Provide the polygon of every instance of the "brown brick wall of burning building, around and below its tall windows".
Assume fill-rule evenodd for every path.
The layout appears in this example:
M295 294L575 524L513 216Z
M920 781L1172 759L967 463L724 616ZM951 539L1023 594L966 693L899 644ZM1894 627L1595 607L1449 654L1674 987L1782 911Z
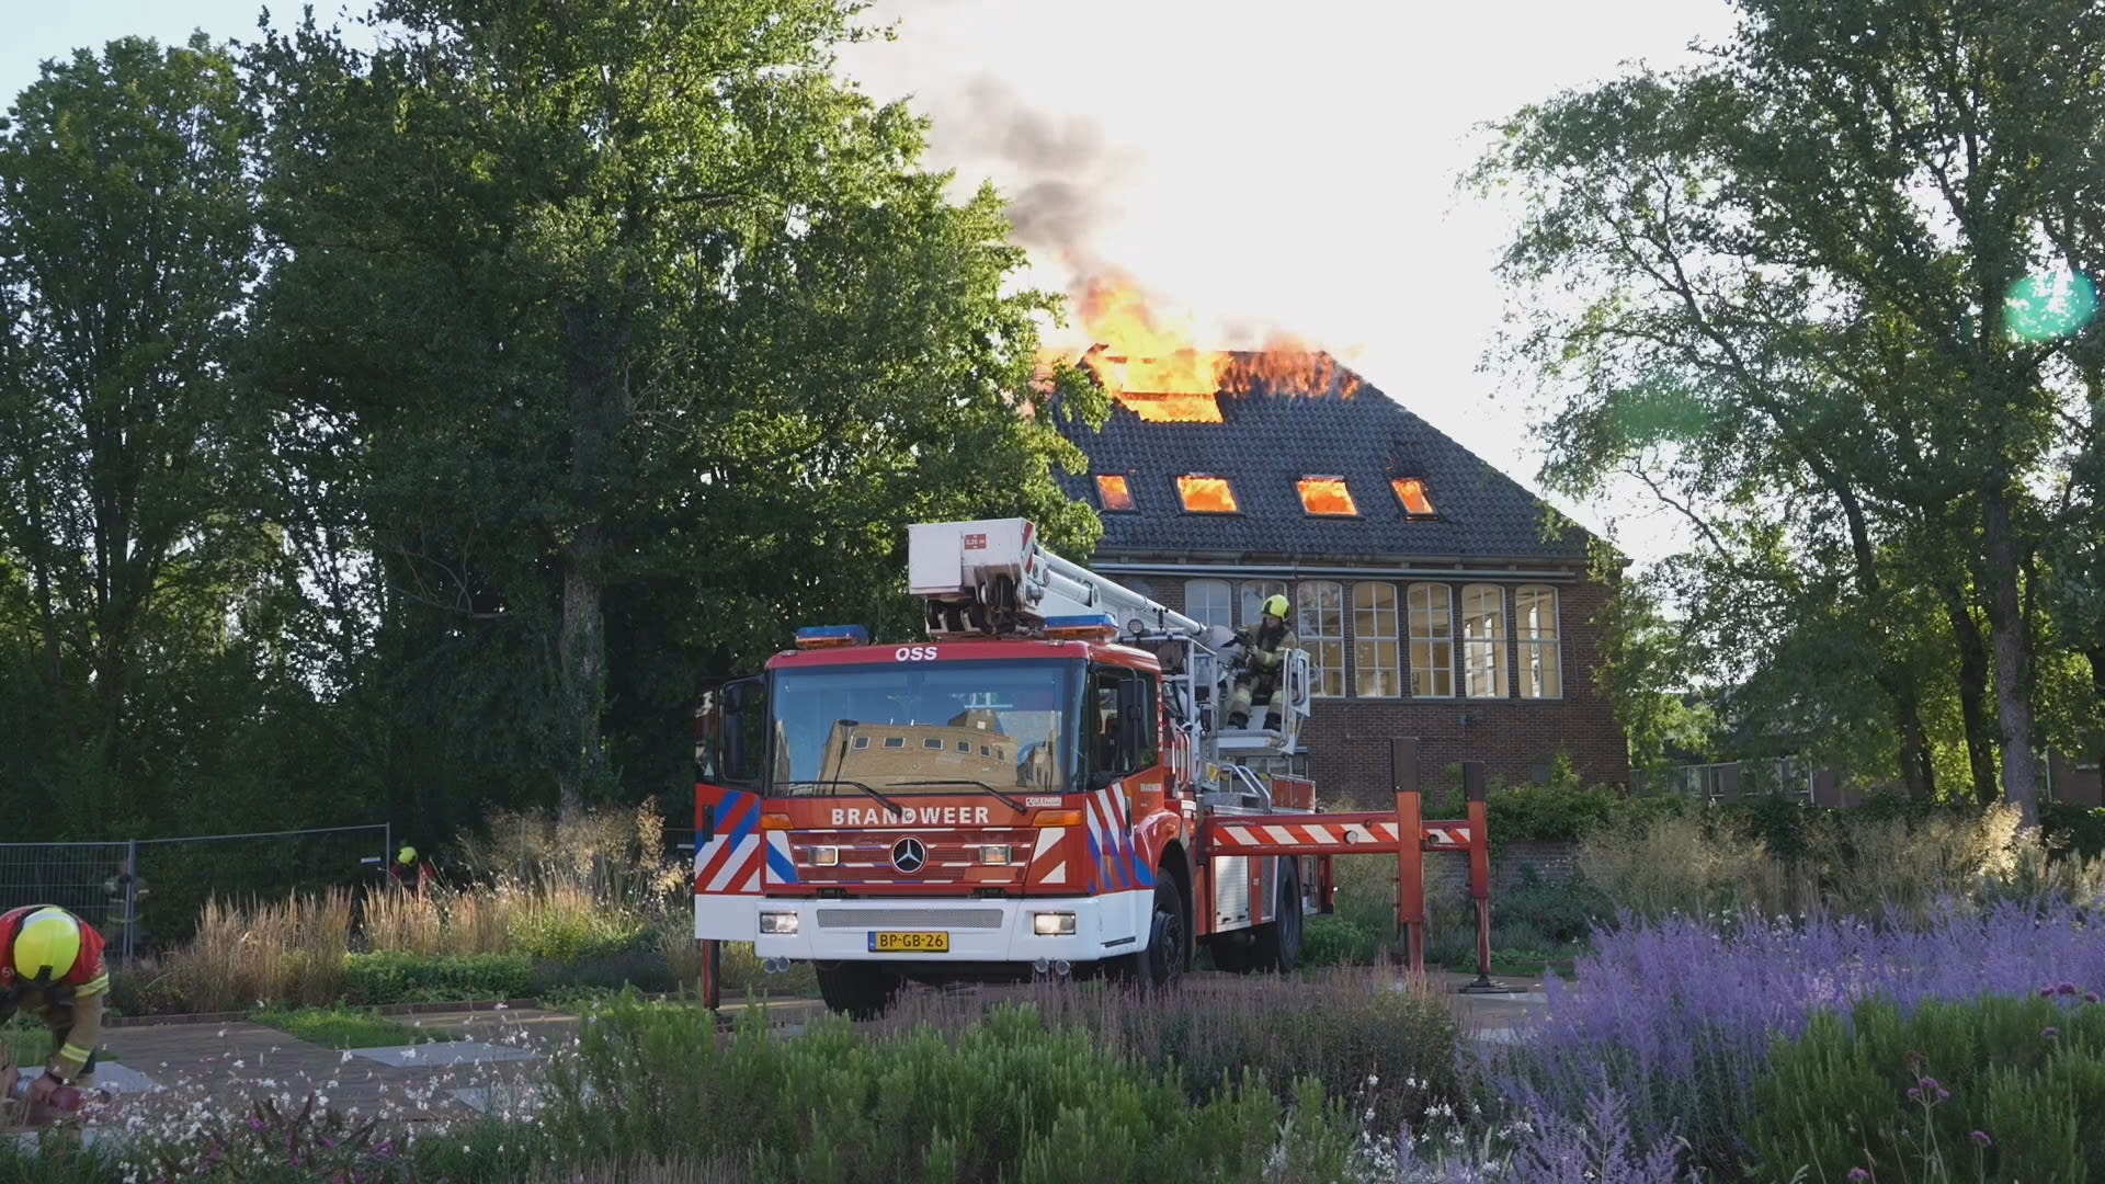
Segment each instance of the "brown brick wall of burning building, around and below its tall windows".
M1579 773L1593 782L1621 782L1629 775L1629 750L1615 710L1593 689L1593 668L1600 664L1600 630L1593 617L1606 605L1608 588L1589 581L1553 584L1558 590L1558 649L1562 666L1564 695L1558 699L1522 699L1518 695L1518 628L1513 621L1513 594L1520 581L1499 581L1486 571L1482 581L1507 588L1505 596L1505 662L1507 697L1503 699L1360 699L1354 697L1354 613L1351 579L1345 584L1345 689L1347 697L1318 697L1303 729L1307 775L1316 780L1318 801L1339 805L1383 805L1389 794L1389 739L1398 735L1419 737L1419 780L1427 790L1444 784L1444 769L1459 761L1482 761L1490 777L1507 784L1532 782L1547 773L1558 750L1570 752ZM1379 575L1368 575L1379 579ZM1187 611L1185 581L1181 577L1147 575L1128 577L1122 584L1141 590L1170 609ZM1229 584L1238 581L1229 577ZM1404 588L1408 581L1394 581L1398 588L1400 617L1404 615ZM1457 645L1461 584L1455 590ZM1297 588L1288 586L1288 594ZM1240 596L1238 596L1240 600ZM1408 634L1408 624L1400 626ZM1408 638L1398 647L1408 664ZM1404 674L1408 687L1408 672ZM1463 689L1457 674L1455 689Z

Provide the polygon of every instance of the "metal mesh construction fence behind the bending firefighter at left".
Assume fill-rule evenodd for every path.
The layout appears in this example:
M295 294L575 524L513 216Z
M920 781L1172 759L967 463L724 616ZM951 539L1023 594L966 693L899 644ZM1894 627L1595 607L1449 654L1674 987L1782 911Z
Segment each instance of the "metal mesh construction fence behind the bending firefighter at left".
M356 889L387 876L394 828L326 826L126 838L0 843L0 912L57 904L95 925L114 961L183 942L210 897L269 900Z

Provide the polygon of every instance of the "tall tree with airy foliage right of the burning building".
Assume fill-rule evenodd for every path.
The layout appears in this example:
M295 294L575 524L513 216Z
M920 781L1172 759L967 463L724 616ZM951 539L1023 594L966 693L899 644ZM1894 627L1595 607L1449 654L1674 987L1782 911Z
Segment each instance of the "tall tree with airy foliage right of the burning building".
M1873 630L1869 672L1918 792L1930 744L1897 621L1918 609L1888 565L1932 567L1905 550L1909 529L1958 514L1977 554L1943 556L1941 584L1968 590L1947 617L1979 594L2004 794L2029 822L2025 581L2044 516L2027 482L2073 392L2057 369L2067 333L2031 333L2012 293L2069 265L2050 230L2084 225L2105 15L2076 0L1739 8L1705 63L1530 107L1480 169L1530 198L1507 274L1572 297L1537 305L1518 343L1568 383L1551 474L1593 489L1636 463L1722 556L1846 573L1831 596Z

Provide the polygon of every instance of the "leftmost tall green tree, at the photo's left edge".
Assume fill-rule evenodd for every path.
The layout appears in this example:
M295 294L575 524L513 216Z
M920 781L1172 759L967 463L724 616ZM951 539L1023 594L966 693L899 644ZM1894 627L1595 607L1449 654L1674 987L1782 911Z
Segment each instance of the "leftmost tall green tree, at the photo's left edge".
M44 754L36 796L97 822L143 805L143 680L185 628L223 630L185 596L255 541L225 369L257 265L250 126L202 36L48 63L0 122L0 567L40 687L15 739Z

